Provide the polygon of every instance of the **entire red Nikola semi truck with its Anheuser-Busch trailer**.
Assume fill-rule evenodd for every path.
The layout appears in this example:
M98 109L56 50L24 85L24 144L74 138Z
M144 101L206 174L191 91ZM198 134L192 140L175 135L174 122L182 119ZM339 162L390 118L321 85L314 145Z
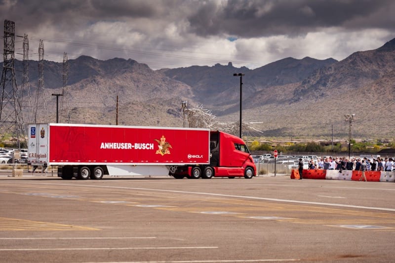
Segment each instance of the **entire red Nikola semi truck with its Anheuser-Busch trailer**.
M63 179L256 175L247 146L221 131L90 124L29 124L28 162L58 166Z

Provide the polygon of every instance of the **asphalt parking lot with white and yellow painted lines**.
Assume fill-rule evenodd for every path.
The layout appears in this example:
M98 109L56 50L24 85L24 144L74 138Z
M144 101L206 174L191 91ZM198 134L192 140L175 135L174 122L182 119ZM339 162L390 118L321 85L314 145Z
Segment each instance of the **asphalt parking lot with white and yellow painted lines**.
M395 184L0 176L0 262L394 262Z

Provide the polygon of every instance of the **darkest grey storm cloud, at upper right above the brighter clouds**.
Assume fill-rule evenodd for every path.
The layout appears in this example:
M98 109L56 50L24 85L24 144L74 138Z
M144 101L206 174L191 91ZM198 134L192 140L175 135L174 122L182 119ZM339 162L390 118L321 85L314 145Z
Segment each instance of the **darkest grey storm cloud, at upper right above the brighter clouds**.
M199 36L267 37L306 34L326 27L393 28L393 0L230 0L201 4L189 17ZM363 19L361 19L363 18ZM371 18L371 19L369 19Z

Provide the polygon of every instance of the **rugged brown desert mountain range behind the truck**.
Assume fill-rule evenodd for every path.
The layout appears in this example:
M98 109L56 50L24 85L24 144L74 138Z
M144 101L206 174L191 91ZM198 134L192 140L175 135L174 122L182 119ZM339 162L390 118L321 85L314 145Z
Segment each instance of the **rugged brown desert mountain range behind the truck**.
M15 60L18 89L22 69L22 62ZM68 61L69 96L60 97L60 120L116 124L118 96L120 125L182 127L184 101L189 107L202 105L217 121L236 123L240 90L235 73L245 74L243 122L263 136L348 138L350 123L344 115L349 113L355 114L353 138L394 138L395 38L341 61L284 58L254 70L229 62L154 71L132 59L81 56ZM29 84L34 103L38 61L29 61ZM44 87L37 122L55 122L56 98L51 94L62 93L62 63L44 60ZM29 122L27 94L25 88L23 116Z

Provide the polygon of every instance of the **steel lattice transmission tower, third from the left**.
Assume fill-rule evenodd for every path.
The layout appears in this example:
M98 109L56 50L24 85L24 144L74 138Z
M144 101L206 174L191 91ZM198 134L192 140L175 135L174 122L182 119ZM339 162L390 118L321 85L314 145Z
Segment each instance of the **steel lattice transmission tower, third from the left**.
M40 100L40 98L42 98L42 101ZM47 114L46 99L45 99L45 88L44 88L44 43L42 42L41 39L39 44L39 82L37 85L36 102L33 107L34 122L36 123L37 123L37 117L38 117L37 115L39 109L40 112L43 112L44 114L43 122L48 122L48 114Z

